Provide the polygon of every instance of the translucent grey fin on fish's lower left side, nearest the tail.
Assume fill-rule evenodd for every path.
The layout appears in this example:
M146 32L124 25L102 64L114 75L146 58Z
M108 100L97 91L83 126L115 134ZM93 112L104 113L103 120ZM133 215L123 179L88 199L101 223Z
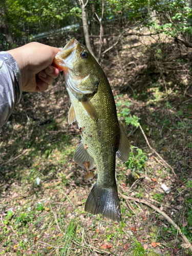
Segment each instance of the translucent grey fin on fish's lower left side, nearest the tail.
M89 162L90 170L93 169L93 167L95 166L95 161L94 161L93 157L90 156L90 154L88 153L86 148L84 148L84 143L82 140L80 141L80 144L78 145L78 147L75 151L75 155L74 155L73 159L76 162L76 164L78 164L82 168L84 168L84 165L83 165L84 161Z

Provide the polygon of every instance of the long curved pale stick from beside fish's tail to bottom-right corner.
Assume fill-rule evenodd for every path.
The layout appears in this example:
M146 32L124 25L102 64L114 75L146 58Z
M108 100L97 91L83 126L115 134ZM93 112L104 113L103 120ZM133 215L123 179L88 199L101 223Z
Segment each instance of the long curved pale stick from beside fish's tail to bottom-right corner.
M181 235L181 237L183 238L183 240L185 241L185 243L189 246L188 248L192 251L192 245L191 243L188 241L188 239L186 238L186 236L181 232L181 229L180 227L172 220L170 219L170 217L168 215L165 214L165 212L161 211L158 207L156 207L155 205L145 201L145 200L142 200L142 199L138 199L138 198L134 198L134 197L127 197L127 196L124 196L124 195L121 195L122 198L124 198L125 200L128 199L128 200L133 200L134 202L138 202L138 203L142 203L142 204L146 204L148 206L150 206L152 209L156 210L159 214L161 214L170 224L172 224L175 229L179 230L179 233Z

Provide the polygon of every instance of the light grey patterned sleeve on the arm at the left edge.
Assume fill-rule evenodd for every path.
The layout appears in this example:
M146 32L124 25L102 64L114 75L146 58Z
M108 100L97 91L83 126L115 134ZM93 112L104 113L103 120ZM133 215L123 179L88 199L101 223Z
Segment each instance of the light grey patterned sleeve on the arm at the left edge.
M11 115L22 97L22 76L15 59L7 52L0 52L0 127Z

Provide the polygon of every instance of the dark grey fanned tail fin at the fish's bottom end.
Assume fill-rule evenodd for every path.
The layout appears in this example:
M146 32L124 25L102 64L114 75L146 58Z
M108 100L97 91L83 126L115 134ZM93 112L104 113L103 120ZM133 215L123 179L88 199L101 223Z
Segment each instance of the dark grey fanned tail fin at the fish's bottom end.
M113 221L121 221L121 209L117 193L117 185L110 188L93 186L84 207L91 214L102 214L102 216Z

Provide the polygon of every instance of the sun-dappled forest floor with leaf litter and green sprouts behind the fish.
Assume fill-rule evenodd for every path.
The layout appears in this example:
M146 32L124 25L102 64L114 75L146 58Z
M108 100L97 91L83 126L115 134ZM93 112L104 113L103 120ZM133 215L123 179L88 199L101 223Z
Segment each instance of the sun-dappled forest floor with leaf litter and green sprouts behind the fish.
M0 133L0 254L191 255L158 212L123 198L159 207L192 242L191 57L168 38L129 37L101 62L133 145L128 163L116 160L121 223L84 211L97 174L86 181L73 161L80 136L67 122L62 74L46 92L23 93ZM133 116L185 186L150 151Z

